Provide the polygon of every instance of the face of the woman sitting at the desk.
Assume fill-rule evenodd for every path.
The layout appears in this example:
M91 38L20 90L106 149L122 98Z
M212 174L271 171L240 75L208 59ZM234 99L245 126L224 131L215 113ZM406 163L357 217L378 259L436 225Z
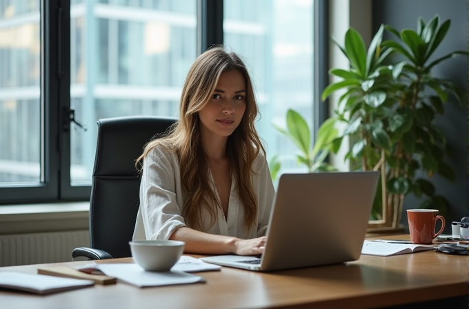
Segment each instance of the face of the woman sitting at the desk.
M212 96L199 110L204 137L228 137L241 123L246 110L246 81L238 70L221 73Z

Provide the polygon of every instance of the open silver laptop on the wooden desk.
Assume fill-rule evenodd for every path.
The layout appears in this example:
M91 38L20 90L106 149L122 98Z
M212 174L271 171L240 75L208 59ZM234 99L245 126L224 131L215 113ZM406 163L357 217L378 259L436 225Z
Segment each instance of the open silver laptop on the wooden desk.
M203 261L257 271L359 259L379 172L283 174L261 257L219 255Z

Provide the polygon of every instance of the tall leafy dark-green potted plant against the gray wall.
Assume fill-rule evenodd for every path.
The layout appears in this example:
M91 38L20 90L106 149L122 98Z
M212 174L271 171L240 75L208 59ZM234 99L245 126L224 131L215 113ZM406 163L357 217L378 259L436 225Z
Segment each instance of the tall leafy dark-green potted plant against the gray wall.
M417 30L399 32L381 25L368 50L360 34L350 28L339 46L350 68L330 70L341 80L326 87L322 99L343 91L335 112L346 128L337 142L349 138L346 159L352 170L381 170L371 218L376 221L369 230L399 228L403 200L410 192L424 198L421 208L437 208L444 214L448 207L428 181L435 174L455 179L446 163L450 155L446 137L434 123L450 95L459 102L465 96L454 83L432 74L442 61L467 54L456 51L432 58L448 28L450 20L440 24L438 15L428 22L419 18ZM395 40L383 41L386 30Z

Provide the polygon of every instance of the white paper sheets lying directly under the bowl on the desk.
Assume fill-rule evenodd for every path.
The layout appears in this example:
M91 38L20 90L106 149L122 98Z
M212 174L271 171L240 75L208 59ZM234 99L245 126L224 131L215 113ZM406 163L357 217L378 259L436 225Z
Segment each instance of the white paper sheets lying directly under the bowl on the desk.
M119 281L130 283L141 288L205 281L202 277L181 271L148 272L134 263L98 263L97 268L108 276L116 277Z

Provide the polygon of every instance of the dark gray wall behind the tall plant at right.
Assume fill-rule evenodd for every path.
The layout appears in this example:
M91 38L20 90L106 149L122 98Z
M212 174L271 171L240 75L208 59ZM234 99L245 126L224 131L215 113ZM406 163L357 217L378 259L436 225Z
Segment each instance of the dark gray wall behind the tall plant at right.
M443 43L435 52L435 58L455 50L468 50L468 0L373 0L373 33L381 23L402 30L417 28L417 18L426 21L439 14L440 21L451 19L451 27ZM433 71L468 90L468 57L456 57L443 61ZM451 221L459 221L468 216L468 106L460 106L455 99L446 104L443 117L437 119L453 154L448 163L456 173L456 181L451 183L438 175L430 181L450 203L445 216L445 232L450 233ZM417 208L420 200L412 195L406 197L404 208ZM403 214L402 223L408 226L407 215Z

